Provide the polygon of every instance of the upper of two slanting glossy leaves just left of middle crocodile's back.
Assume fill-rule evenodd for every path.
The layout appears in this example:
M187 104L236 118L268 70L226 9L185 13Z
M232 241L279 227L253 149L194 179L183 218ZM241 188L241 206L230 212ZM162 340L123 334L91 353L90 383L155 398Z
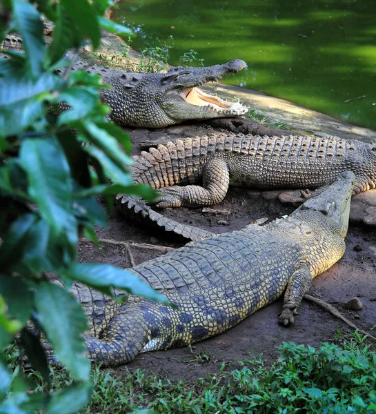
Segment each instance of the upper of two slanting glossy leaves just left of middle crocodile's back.
M119 168L125 169L133 164L133 159L121 151L117 139L112 136L112 128L108 128L109 125L108 122L83 122L89 141L105 152Z

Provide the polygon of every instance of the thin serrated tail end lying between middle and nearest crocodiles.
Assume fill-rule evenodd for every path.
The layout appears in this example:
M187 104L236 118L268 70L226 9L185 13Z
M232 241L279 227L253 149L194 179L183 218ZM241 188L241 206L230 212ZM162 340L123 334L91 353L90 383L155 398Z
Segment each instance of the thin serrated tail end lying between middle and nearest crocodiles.
M130 195L118 194L115 199L115 204L122 215L132 220L159 228L166 232L175 233L175 235L182 236L188 240L206 239L206 237L215 235L215 233L211 233L202 228L181 224L168 217L164 217L157 213L157 211L152 210L149 206L146 206L144 200Z

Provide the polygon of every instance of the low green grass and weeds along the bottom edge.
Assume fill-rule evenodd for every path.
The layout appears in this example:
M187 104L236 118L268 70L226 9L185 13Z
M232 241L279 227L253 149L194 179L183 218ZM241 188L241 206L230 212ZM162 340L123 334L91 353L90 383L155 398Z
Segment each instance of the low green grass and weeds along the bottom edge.
M81 413L376 413L376 352L359 333L346 341L338 331L336 339L341 346L324 343L319 349L284 342L271 365L261 357L229 371L221 363L219 373L192 383L96 366L90 405ZM14 348L9 364L16 363ZM51 373L52 388L69 384L66 371ZM38 374L27 375L44 387Z

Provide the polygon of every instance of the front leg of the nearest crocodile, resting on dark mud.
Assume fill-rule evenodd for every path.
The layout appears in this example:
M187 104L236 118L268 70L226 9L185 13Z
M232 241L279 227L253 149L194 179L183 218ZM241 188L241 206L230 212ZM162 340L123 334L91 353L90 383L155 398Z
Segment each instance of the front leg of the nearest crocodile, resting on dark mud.
M297 309L301 304L303 296L308 292L312 282L312 275L308 267L295 270L288 280L286 293L284 295L284 306L279 315L279 323L288 326L294 323L295 315L299 315Z

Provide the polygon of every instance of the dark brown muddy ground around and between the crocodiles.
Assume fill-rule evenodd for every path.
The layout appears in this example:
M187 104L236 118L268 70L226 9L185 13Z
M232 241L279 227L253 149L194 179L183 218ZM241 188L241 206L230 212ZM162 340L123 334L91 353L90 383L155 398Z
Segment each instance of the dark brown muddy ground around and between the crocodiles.
M258 128L254 123L248 122L247 125L250 130ZM219 126L224 126L224 124ZM217 128L218 124L215 127ZM244 132L244 124L241 128ZM192 137L213 131L213 126L205 124L181 125L156 131L128 130L134 143L134 153L139 152L137 144L141 141ZM268 132L275 132L275 130L262 130L261 133ZM178 221L201 226L215 233L223 233L242 228L257 219L271 220L289 214L297 204L282 203L281 200L286 201L286 197L284 197L286 193L282 196L279 195L280 193L280 191L230 188L226 199L213 207L213 211L203 213L202 208L195 210L179 208L168 209L164 213ZM367 197L373 197L373 202L376 205L376 193L368 193ZM358 200L358 207L361 208L360 210L358 208L357 212L353 212L353 216L359 216L359 214L363 216L365 210L363 211L362 208L364 209L366 205L364 203L364 199ZM368 212L370 209L375 209L375 205L368 206ZM374 216L368 216L368 221L372 221ZM359 219L356 223L352 221L346 237L347 248L344 257L326 273L314 279L310 289L310 295L334 304L343 315L365 331L370 331L376 325L375 229L374 226L359 223ZM173 239L159 231L127 221L117 213L116 209L110 215L108 228L98 229L97 235L102 239L110 239L115 242L150 244L168 246L169 248L184 246L186 242L184 239ZM123 244L108 242L101 243L100 247L96 247L90 242L81 242L79 246L79 258L82 261L109 263L119 267L130 267L132 263L139 264L163 253L166 253L164 248L161 248L160 251L148 248L148 246L127 248ZM355 296L362 300L364 305L362 311L348 311L344 308L348 299ZM148 373L166 375L170 380L179 378L195 380L206 373L218 372L222 362L227 362L231 367L235 366L238 360L251 359L261 353L264 354L266 360L272 360L277 355L276 346L281 345L284 341L319 346L321 342L333 341L338 329L343 333L350 331L350 328L328 312L306 301L301 306L301 312L296 318L295 325L284 328L277 323L280 308L281 301L275 302L251 315L226 333L195 344L191 348L141 354L126 367L117 368L116 372L121 375L121 371L128 368L130 370L142 368ZM375 335L375 330L370 333Z

